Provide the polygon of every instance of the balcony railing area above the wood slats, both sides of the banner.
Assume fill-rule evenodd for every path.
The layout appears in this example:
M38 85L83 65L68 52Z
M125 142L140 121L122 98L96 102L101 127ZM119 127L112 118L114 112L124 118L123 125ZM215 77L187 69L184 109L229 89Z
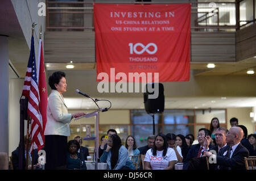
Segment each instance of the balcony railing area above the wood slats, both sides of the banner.
M148 4L149 2L48 0L47 31L94 31L93 3ZM191 31L236 31L255 23L255 0L150 2L151 5L176 3L192 4Z

